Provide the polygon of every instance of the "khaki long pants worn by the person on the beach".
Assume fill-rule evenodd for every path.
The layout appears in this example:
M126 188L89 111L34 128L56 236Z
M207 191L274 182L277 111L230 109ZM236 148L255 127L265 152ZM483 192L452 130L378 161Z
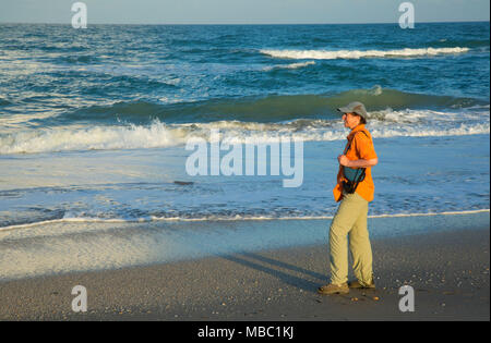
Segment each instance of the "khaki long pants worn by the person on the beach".
M356 192L343 195L330 229L331 283L348 281L348 235L355 277L372 282L372 248L367 228L368 201Z

